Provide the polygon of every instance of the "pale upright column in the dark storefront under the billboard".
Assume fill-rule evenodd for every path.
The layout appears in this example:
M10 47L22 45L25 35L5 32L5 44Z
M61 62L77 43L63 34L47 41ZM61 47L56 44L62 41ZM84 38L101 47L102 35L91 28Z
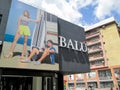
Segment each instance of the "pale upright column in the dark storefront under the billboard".
M33 77L33 90L42 90L42 77Z

